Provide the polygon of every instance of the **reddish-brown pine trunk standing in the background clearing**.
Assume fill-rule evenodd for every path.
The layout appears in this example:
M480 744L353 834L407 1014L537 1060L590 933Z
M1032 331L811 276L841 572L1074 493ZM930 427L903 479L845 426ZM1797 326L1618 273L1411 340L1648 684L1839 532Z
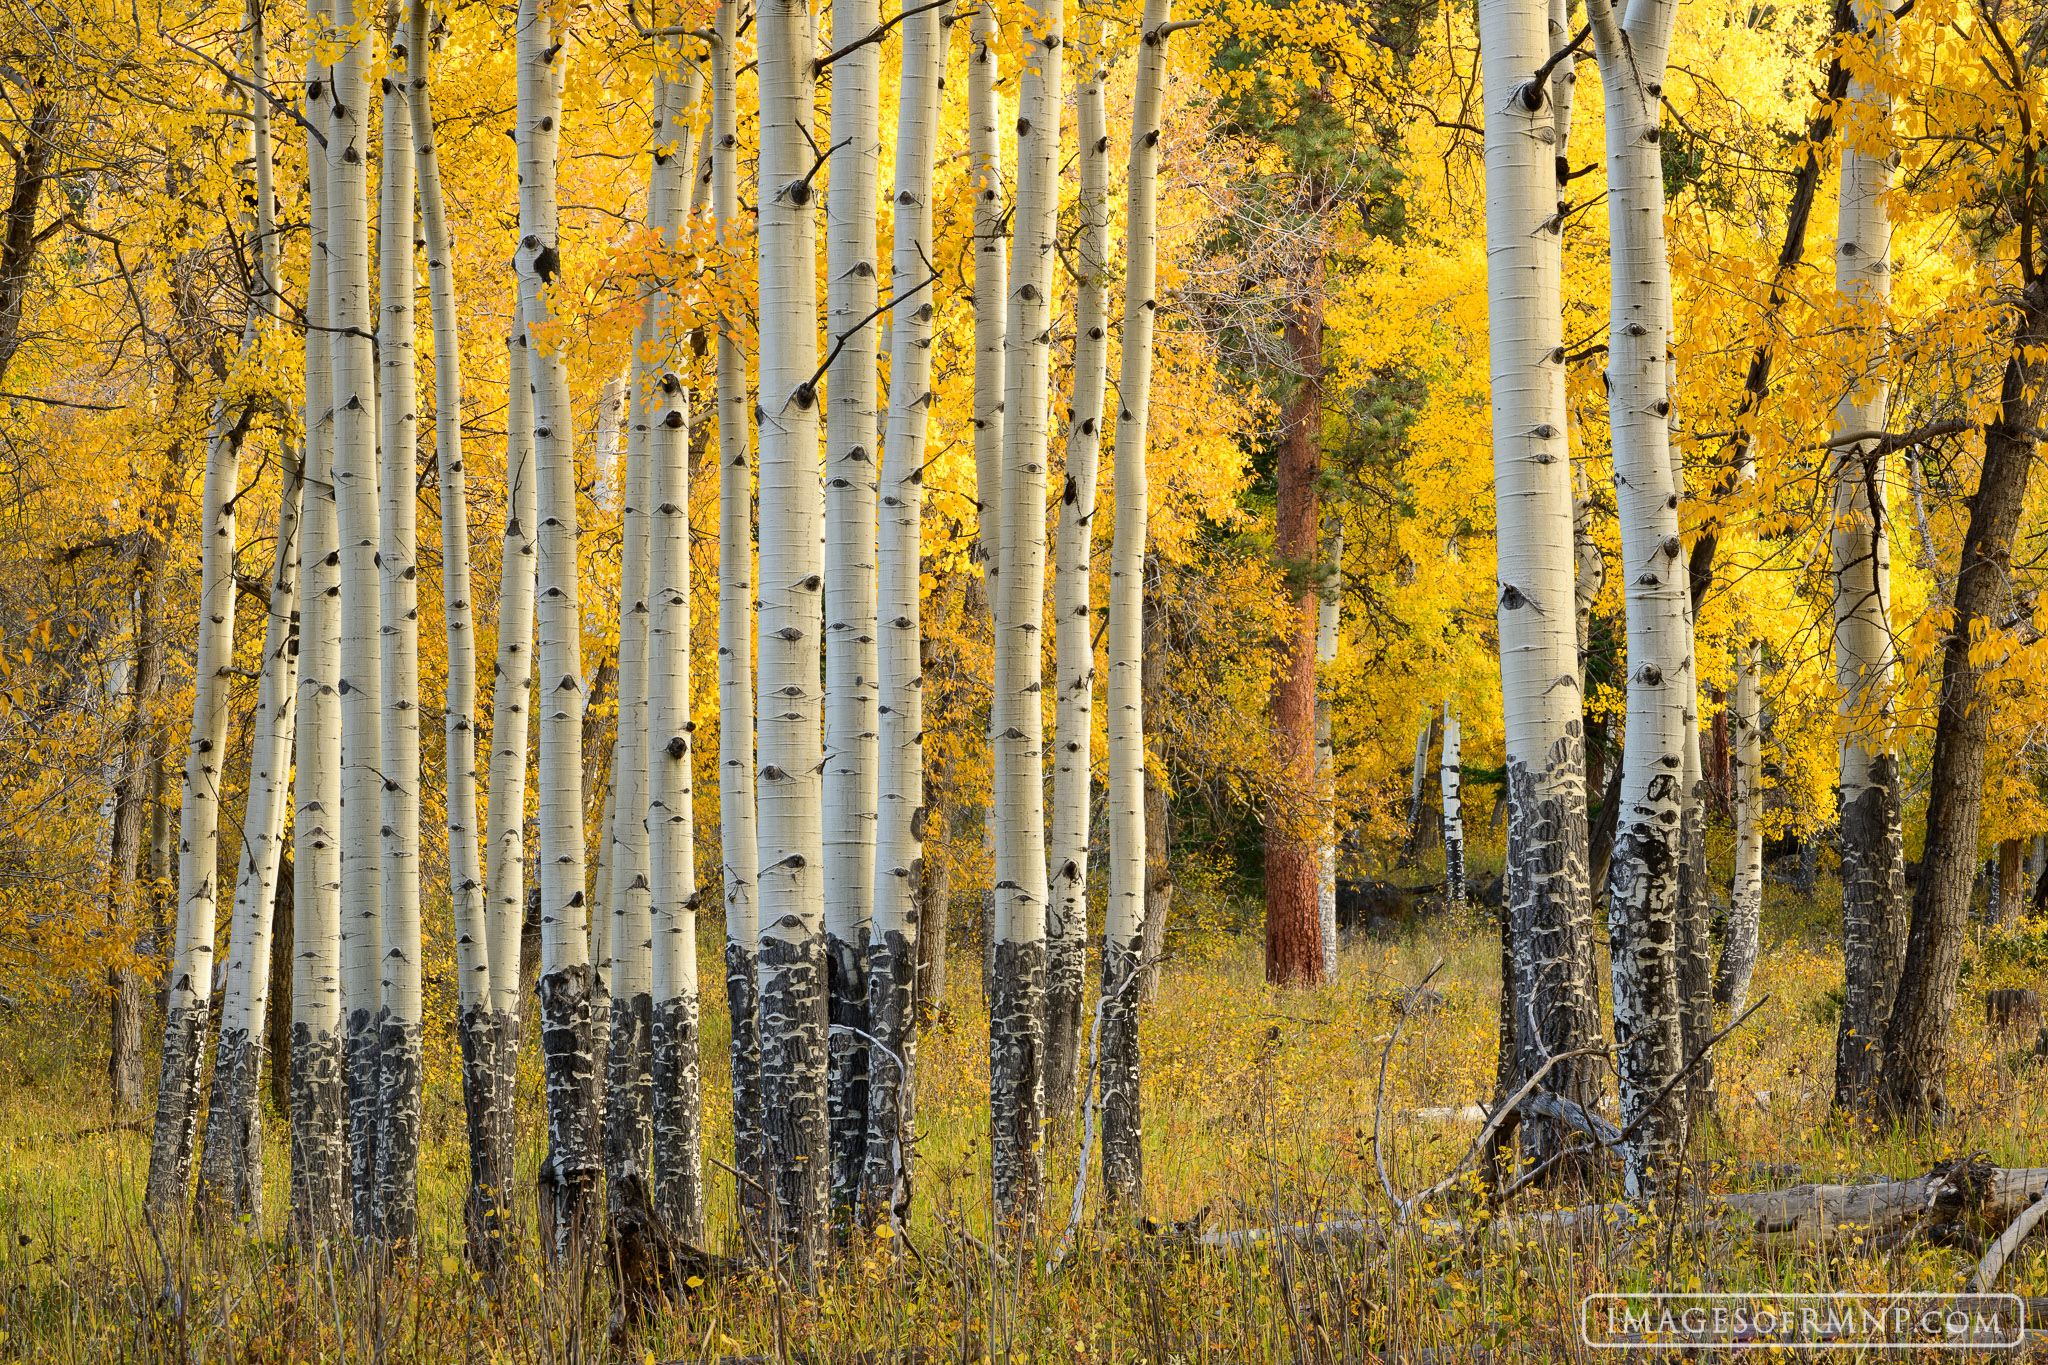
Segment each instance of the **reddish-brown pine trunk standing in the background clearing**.
M1317 917L1315 821L1315 583L1319 548L1317 479L1323 473L1323 303L1321 262L1286 321L1292 391L1280 407L1274 557L1286 573L1286 636L1274 659L1272 729L1280 772L1266 800L1266 980L1313 986L1323 980ZM1149 917L1149 915L1147 915Z

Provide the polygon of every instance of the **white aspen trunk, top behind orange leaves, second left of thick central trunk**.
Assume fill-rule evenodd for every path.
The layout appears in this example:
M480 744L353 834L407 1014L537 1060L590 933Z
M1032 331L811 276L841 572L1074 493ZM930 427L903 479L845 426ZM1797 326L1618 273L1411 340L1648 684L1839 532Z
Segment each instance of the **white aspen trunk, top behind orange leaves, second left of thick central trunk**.
M678 186L680 188L680 186ZM664 375L647 450L651 563L647 634L647 833L653 868L653 1195L670 1228L705 1244L698 1103L696 837L690 794L690 411Z

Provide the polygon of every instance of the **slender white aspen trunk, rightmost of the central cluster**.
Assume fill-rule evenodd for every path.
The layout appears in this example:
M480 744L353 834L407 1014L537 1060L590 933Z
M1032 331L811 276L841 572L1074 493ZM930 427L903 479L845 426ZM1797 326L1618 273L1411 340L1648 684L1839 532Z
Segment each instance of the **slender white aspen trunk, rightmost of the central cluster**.
M1116 534L1110 542L1108 823L1110 894L1102 915L1102 1189L1114 1207L1145 1193L1139 978L1145 966L1145 436L1153 321L1159 311L1159 121L1171 0L1145 0L1130 92L1124 190L1124 327L1116 395Z

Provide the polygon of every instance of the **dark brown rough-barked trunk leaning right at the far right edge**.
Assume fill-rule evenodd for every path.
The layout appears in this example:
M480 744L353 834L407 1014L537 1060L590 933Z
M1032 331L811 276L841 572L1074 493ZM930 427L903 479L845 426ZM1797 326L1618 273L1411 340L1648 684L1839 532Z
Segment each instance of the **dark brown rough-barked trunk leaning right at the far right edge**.
M1962 945L1970 929L1976 833L1985 806L1985 636L1995 630L2011 585L2013 534L2034 471L2040 422L2042 346L2048 346L2048 287L2030 280L2015 307L2013 354L1999 391L1999 422L1985 430L1985 465L1970 497L1970 526L1956 569L1954 620L1942 641L1942 694L1927 778L1927 843L1913 888L1913 927L1890 1019L1878 1105L1898 1117L1948 1109L1942 1066L1956 1015Z

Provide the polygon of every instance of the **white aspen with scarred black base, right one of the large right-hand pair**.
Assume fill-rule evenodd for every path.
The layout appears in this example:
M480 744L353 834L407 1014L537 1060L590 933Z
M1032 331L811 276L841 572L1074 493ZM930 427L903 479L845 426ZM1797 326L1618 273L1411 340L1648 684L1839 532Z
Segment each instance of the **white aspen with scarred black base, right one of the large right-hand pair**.
M1608 872L1608 939L1614 945L1614 1038L1624 1144L1624 1185L1649 1197L1675 1171L1686 1113L1657 1101L1683 1064L1679 864L1686 855L1686 692L1692 620L1679 489L1671 477L1669 295L1663 231L1659 119L1675 6L1634 0L1616 23L1610 0L1589 0L1608 115L1608 411L1614 491L1622 526L1628 620L1628 733L1622 808Z

